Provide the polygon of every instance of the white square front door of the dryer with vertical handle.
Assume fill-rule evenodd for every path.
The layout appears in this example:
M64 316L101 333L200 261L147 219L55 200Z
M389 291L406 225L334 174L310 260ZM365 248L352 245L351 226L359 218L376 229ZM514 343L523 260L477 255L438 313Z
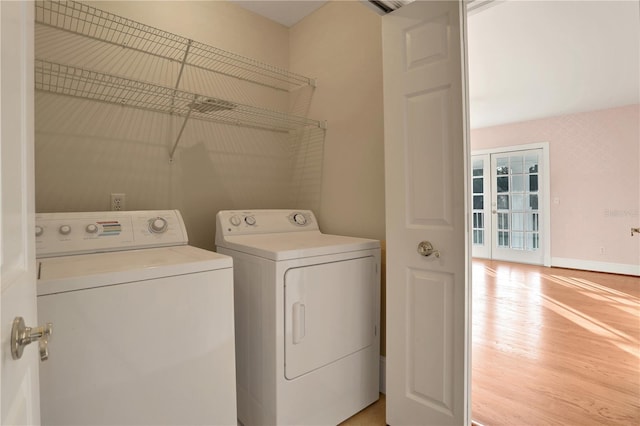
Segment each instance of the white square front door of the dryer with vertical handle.
M295 379L373 344L375 259L285 273L285 377Z

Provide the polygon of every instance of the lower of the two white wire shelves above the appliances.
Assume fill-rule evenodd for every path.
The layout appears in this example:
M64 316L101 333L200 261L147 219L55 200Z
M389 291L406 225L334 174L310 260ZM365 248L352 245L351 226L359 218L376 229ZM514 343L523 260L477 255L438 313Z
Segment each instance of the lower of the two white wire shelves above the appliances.
M289 132L308 126L323 127L321 122L305 117L40 59L35 60L35 88L59 95L174 114L185 119L195 118L276 132Z

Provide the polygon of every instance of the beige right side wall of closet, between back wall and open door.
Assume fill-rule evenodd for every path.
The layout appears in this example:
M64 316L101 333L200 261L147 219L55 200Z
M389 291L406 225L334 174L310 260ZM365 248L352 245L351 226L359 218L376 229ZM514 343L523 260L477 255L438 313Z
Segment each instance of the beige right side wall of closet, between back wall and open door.
M317 78L309 116L328 123L327 233L385 238L381 23L360 2L333 1L291 28L290 69Z

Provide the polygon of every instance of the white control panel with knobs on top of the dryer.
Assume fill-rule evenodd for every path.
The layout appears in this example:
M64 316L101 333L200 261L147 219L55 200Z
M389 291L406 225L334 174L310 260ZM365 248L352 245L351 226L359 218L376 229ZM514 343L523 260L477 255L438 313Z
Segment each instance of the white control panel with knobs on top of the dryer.
M318 230L311 210L221 210L216 235L267 234Z

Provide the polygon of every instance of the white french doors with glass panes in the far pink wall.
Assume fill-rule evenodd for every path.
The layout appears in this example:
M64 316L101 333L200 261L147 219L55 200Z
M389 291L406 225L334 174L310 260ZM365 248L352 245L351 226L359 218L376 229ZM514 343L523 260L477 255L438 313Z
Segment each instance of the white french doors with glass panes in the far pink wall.
M545 147L472 156L473 256L547 264Z

